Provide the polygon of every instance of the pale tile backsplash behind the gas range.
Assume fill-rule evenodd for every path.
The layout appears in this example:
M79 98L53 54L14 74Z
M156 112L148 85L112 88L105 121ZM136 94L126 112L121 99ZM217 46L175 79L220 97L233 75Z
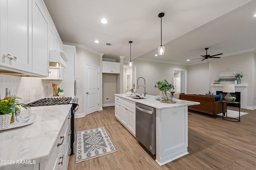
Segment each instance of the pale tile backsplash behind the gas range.
M41 98L52 97L52 83L60 84L58 80L42 80L37 77L20 77L0 74L0 96L5 96L5 89L11 89L11 95L20 98L20 103L30 103Z

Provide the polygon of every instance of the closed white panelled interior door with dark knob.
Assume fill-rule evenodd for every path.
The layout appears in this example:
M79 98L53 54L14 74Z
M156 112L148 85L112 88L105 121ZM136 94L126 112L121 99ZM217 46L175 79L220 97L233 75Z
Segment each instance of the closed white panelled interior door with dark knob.
M85 115L98 111L98 67L85 64Z

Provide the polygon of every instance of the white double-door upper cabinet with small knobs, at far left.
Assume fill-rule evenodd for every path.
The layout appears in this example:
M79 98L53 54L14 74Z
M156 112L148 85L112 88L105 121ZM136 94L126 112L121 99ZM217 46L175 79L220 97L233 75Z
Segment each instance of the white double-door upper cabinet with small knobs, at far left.
M32 71L29 51L32 0L0 1L0 65L25 72Z

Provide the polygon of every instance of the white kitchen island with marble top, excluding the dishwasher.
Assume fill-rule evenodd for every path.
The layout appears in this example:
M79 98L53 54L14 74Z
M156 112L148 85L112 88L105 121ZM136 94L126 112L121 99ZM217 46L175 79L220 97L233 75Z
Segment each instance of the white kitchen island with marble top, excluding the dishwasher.
M128 131L135 136L135 103L156 108L156 162L164 165L172 160L188 154L188 106L200 104L187 100L178 100L176 103L162 103L156 96L147 95L146 98L134 99L126 94L115 95L115 115ZM116 109L119 105L130 109L127 121L119 117ZM136 114L136 113L135 113ZM124 115L123 117L126 117Z

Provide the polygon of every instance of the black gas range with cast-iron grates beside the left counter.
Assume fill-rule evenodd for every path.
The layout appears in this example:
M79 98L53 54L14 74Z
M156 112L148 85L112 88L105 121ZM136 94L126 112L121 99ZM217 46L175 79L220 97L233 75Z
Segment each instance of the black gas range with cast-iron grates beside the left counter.
M61 104L72 104L71 107L71 137L70 137L70 147L71 155L74 154L74 142L75 142L75 113L79 108L78 98L44 98L36 100L27 104L27 106L50 106L50 105L61 105Z

